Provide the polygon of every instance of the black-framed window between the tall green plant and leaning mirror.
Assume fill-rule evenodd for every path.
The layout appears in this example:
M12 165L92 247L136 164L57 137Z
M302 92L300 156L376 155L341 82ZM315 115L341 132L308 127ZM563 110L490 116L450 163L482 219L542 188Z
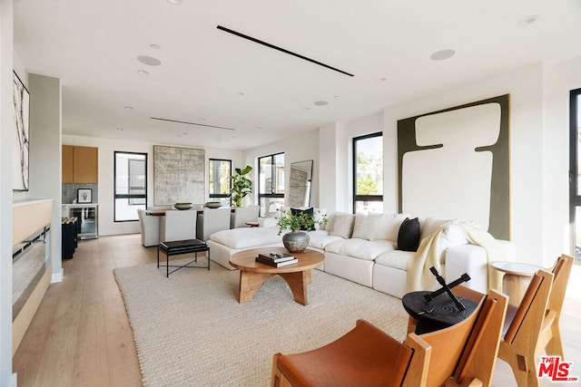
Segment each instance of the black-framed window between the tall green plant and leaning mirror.
M258 170L261 217L269 217L284 206L284 153L259 158Z

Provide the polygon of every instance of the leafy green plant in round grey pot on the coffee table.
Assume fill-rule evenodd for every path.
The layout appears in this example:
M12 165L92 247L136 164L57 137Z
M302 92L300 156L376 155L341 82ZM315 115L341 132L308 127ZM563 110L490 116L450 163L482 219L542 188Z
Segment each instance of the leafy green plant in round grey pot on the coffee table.
M298 253L309 246L310 237L304 231L311 231L315 226L322 226L328 221L324 215L315 217L312 211L281 209L281 217L278 218L277 227L279 235L285 230L291 230L282 236L282 244L291 253Z

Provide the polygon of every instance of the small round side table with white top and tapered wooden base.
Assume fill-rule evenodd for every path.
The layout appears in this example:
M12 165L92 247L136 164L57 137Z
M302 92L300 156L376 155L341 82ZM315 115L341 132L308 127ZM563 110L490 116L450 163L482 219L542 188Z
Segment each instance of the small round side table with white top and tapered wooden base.
M502 277L502 291L508 295L510 305L520 305L520 302L527 292L530 278L543 267L520 262L493 262L490 264L494 269L504 273Z

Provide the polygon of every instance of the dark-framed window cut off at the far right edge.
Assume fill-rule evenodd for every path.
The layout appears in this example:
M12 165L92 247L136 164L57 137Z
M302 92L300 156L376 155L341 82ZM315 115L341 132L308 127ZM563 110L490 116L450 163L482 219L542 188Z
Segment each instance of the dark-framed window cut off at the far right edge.
M569 103L569 218L576 260L581 260L581 89L570 93Z

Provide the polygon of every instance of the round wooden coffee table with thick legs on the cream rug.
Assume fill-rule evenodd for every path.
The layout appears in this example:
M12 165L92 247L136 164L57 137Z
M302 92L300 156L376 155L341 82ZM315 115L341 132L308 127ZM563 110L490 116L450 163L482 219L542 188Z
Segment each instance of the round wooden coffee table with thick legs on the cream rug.
M307 285L310 284L310 269L320 266L325 256L317 251L306 249L302 253L292 253L299 262L289 266L273 267L256 262L259 254L272 252L287 253L284 247L252 248L230 257L230 265L240 269L240 292L238 302L251 301L256 291L271 276L281 276L291 287L294 300L307 305Z

